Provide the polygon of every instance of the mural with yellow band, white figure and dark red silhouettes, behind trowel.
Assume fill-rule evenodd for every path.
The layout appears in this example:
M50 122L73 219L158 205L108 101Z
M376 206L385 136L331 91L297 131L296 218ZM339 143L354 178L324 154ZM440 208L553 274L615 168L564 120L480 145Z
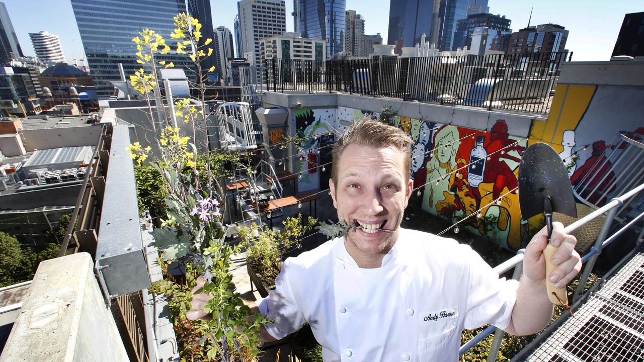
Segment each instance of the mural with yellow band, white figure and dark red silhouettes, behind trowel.
M573 186L585 186L579 188L580 196L601 205L618 196L612 194L630 166L613 163L625 146L619 133L644 135L642 99L641 87L558 84L549 117L533 126L531 142L545 142L558 151Z

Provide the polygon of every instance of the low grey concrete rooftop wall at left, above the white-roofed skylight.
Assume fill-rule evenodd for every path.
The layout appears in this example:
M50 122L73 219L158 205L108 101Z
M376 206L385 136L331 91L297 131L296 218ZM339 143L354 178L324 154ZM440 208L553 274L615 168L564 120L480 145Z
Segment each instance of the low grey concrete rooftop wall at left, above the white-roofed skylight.
M101 126L23 129L27 151L59 147L96 146L99 143Z

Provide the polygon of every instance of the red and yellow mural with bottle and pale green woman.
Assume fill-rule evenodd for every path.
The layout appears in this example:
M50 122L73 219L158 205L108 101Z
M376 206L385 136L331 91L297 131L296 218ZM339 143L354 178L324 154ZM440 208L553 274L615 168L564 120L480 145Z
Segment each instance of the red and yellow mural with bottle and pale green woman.
M490 132L407 117L396 122L415 141L410 171L422 209L454 223L466 218L460 229L519 249L527 223L516 187L527 140L510 137L502 119Z

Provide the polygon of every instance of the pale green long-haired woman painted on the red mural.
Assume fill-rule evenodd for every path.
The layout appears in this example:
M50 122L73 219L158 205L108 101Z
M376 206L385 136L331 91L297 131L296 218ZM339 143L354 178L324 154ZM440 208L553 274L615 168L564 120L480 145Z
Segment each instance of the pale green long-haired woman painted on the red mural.
M456 153L460 146L459 129L456 126L443 126L434 135L434 151L427 162L427 187L423 205L431 209L445 199L444 192L449 191L450 173L456 167Z

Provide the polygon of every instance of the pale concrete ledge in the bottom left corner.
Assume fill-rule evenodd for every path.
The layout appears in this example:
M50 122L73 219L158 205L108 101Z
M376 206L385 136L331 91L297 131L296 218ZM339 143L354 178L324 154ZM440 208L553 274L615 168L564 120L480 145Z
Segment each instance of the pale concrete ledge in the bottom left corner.
M129 361L90 254L39 265L0 356L15 361Z

